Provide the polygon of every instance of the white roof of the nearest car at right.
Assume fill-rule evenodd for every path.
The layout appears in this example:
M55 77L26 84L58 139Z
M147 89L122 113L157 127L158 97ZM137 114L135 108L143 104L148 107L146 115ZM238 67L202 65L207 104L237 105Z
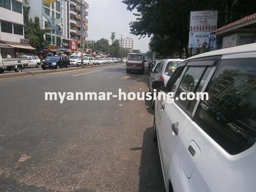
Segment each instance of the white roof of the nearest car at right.
M187 58L186 60L196 59L201 57L209 57L209 56L217 56L217 55L234 55L234 54L245 54L245 53L254 53L256 57L256 43L254 44L247 44L243 46L236 46L231 48L219 49L216 51L210 51L207 53L202 53L199 55L195 55L192 57Z

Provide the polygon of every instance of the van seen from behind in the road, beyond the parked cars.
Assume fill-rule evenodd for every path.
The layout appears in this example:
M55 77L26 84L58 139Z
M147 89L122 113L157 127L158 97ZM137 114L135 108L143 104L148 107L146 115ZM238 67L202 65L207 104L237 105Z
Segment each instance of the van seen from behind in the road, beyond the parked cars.
M126 60L126 73L131 73L131 71L139 71L144 73L144 60L142 54L139 53L129 53Z

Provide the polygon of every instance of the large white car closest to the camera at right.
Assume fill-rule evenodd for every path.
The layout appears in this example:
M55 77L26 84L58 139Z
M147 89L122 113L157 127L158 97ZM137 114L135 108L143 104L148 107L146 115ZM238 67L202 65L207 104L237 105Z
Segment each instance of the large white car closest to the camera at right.
M184 91L209 95L207 104L163 96L155 103L153 138L166 191L256 191L255 55L255 43L199 54L182 62L166 86L153 82L153 89L174 98ZM241 136L230 131L234 125Z

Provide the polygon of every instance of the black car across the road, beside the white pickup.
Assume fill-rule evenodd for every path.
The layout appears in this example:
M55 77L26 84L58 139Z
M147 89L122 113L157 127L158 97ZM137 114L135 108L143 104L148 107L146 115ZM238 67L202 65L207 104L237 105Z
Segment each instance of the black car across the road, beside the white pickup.
M50 56L41 63L41 68L46 69L60 69L60 68L69 68L70 61L67 56Z

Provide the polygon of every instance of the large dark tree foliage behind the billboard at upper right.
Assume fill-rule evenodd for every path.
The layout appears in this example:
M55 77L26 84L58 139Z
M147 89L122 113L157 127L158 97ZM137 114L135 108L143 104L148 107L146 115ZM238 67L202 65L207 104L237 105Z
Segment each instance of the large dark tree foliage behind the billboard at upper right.
M256 4L252 0L123 0L127 10L137 10L137 19L130 23L131 33L151 37L150 49L162 56L188 57L188 32L190 11L218 10L221 27L241 17L252 14ZM171 42L170 42L171 41Z

